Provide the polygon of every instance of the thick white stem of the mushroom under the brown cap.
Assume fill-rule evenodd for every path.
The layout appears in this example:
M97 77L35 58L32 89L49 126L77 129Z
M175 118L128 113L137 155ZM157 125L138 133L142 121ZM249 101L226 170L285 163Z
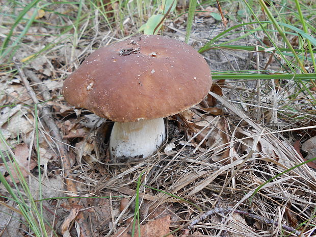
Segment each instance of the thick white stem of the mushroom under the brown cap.
M112 157L148 157L163 144L166 138L163 118L140 120L138 122L115 122L111 138Z

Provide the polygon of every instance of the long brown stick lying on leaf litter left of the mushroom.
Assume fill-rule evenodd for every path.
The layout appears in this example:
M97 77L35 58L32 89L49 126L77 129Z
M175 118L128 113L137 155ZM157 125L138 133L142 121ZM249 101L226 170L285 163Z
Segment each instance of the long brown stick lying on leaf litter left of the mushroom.
M44 123L49 128L49 131L51 132L52 137L54 137L58 141L63 141L63 138L59 132L59 129L56 126L54 119L50 115L49 109L39 104L40 101L36 97L36 94L34 90L32 89L32 87L30 86L30 83L27 80L27 76L25 75L24 71L21 69L21 62L18 61L17 59L14 59L14 64L21 77L21 80L24 84L25 89L27 89L27 92L29 93L33 102L38 104L39 113L41 117L43 118ZM38 84L38 88L40 89L40 91L42 91L42 95L44 99L49 100L50 93L48 92L48 88L44 85L41 85L41 81L39 80L39 78L36 76L35 73L31 71L27 71L27 74L32 79L32 81ZM74 196L74 194L77 193L77 188L75 186L75 183L73 181L73 175L71 173L71 164L68 157L67 147L64 145L64 143L60 143L60 144L56 143L56 145L61 155L61 163L64 170L64 179L65 179L67 191L72 194L71 196ZM69 198L68 200L69 200L70 205L78 205L79 199ZM82 228L81 236L91 236L90 230L89 228L87 228L87 224L86 224L86 221L84 220L83 214L77 216L77 222L80 224L80 227Z

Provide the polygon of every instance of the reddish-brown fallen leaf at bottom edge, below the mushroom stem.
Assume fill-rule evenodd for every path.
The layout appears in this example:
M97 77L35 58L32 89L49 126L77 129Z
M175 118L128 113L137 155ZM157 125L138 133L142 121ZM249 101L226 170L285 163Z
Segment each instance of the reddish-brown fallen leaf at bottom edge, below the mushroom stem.
M171 232L170 227L170 216L165 216L163 218L149 221L146 225L141 225L141 237L162 237ZM117 230L117 233L112 235L112 237L130 237L131 236L131 226L129 229L121 227ZM135 236L138 236L138 226L135 228ZM168 237L173 237L172 234L167 235Z

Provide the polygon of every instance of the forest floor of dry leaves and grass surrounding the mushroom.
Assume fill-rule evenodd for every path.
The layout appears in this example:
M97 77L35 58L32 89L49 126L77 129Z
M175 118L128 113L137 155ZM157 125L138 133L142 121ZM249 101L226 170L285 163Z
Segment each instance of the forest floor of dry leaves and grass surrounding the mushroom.
M70 106L61 90L95 49L138 34L133 1L129 14L101 2L1 7L0 236L315 236L313 54L299 55L310 78L296 77L303 69L278 54L274 43L285 44L273 27L272 43L257 23L233 20L253 20L242 2L233 11L223 3L225 18L200 5L188 43L201 50L217 39L202 53L209 94L165 118L168 139L155 154L113 163L113 122ZM315 6L305 6L315 28ZM291 6L270 7L296 25ZM185 41L187 9L178 3L159 34ZM288 34L293 47L307 45L303 33Z

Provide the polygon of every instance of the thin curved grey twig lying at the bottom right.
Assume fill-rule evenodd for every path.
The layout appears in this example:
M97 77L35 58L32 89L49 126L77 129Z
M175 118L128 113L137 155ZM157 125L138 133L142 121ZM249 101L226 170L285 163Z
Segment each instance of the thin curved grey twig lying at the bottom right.
M248 213L248 212L246 212L244 210L236 210L236 209L233 209L231 207L227 207L227 208L215 207L214 209L209 210L208 212L206 212L203 215L199 216L196 220L192 221L190 223L190 225L187 227L187 229L189 229L189 230L192 229L195 224L197 224L199 221L204 220L205 218L207 218L210 215L213 215L215 213L228 213L228 212L238 213L238 214L250 217L252 219L255 219L257 221L260 221L262 223L265 223L265 224L271 224L271 225L275 225L275 226L279 225L279 223L277 221L274 221L274 220L271 220L271 219L268 219L268 218L265 218L265 217L260 217L260 216L255 215L255 214ZM286 231L292 232L292 233L296 234L297 236L304 237L304 235L302 234L301 231L296 230L293 227L290 227L290 226L287 226L287 225L283 225L283 224L281 226Z

